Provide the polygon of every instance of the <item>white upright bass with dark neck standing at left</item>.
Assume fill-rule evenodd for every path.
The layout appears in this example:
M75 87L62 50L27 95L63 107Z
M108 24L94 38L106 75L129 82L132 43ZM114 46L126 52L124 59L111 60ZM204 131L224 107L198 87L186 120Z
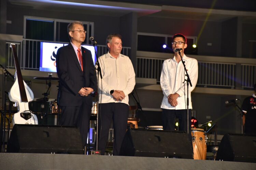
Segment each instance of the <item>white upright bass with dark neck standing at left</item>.
M18 113L13 115L13 124L38 124L37 116L29 111L28 102L34 99L32 90L23 81L14 44L10 46L16 67L14 84L9 91L9 99L17 104Z

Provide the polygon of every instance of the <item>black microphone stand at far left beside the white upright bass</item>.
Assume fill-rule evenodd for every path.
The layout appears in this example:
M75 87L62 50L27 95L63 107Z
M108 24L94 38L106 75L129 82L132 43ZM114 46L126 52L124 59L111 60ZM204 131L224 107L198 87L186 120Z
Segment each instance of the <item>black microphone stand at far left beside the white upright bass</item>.
M8 92L6 92L6 87L7 87L7 77L8 77L8 75L10 75L10 77L11 78L13 78L13 80L14 80L14 76L8 71L8 70L6 70L1 64L0 64L0 66L3 68L3 70L5 71L3 74L4 74L4 77L5 77L5 85L4 85L4 90L3 90L3 93L4 93L4 95L3 95L3 97L4 97L4 99L3 99L3 102L4 102L4 112L1 112L1 114L2 114L2 116L1 116L1 128L0 128L0 139L1 139L1 145L0 145L0 147L1 147L1 149L0 150L2 150L2 152L4 152L4 145L5 145L5 120L6 120L6 94L8 94ZM11 119L11 101L9 102L9 125L8 125L8 134L9 134L9 132L10 132L10 119Z

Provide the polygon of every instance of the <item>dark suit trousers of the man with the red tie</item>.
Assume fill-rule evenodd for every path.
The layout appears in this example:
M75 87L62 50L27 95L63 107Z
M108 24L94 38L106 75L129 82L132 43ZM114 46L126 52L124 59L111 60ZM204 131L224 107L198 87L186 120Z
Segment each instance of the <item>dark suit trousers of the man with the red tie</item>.
M60 106L60 109L60 125L75 126L79 128L83 145L86 145L89 131L91 106L84 103L81 106Z

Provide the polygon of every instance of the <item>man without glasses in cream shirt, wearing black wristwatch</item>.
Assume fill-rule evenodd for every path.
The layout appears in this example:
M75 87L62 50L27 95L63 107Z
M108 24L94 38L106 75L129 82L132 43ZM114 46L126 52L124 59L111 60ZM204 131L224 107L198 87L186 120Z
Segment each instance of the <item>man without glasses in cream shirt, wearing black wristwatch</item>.
M104 155L110 123L114 124L114 155L119 155L127 129L129 97L135 86L135 72L122 51L122 37L110 34L106 39L109 52L99 57L102 80L99 79L98 150Z

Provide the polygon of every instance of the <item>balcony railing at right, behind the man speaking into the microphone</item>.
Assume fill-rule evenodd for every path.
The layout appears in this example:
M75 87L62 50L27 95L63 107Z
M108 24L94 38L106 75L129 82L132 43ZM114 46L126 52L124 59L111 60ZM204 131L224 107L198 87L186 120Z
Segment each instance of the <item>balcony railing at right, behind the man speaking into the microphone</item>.
M162 63L166 59L137 57L136 75L138 78L156 79L160 82ZM243 65L242 75L243 84L250 85L243 87L253 87L255 83L256 65ZM235 87L234 80L236 75L236 64L234 63L217 63L217 62L200 62L198 61L198 81L197 86L204 87ZM250 77L248 77L250 72ZM254 77L253 77L254 76ZM238 81L238 80L236 80Z

